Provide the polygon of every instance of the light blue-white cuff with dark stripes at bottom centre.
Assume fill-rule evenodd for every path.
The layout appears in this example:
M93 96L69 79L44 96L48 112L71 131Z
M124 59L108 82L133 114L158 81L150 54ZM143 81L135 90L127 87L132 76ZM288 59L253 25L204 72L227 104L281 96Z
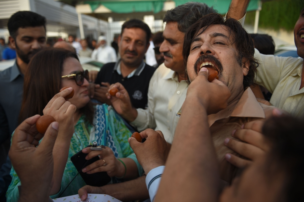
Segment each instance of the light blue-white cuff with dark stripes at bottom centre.
M146 185L149 191L149 196L151 202L153 202L154 197L157 193L159 183L161 182L161 176L164 173L165 166L158 166L147 174Z

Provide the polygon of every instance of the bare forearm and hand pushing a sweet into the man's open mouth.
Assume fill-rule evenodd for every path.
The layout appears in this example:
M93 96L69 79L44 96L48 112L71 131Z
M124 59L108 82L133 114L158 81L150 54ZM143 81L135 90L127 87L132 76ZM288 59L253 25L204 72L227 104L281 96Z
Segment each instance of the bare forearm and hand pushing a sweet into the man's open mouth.
M229 89L202 68L189 85L154 201L216 201L219 168L207 115L226 108ZM178 165L178 166L177 166Z

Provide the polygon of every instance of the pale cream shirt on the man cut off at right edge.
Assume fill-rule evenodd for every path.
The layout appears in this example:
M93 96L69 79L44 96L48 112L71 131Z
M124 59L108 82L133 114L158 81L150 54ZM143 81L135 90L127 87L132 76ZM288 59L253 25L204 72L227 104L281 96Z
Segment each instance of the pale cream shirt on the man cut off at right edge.
M303 116L304 88L300 89L303 59L263 55L257 49L254 57L259 60L256 83L272 93L270 103L292 115Z

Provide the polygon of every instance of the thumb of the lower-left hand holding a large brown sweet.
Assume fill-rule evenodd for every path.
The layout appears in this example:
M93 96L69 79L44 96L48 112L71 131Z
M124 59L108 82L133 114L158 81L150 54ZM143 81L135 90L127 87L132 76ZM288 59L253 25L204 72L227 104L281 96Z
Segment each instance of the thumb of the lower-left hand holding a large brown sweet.
M53 122L49 125L37 150L47 151L47 152L53 151L53 147L58 135L58 128L59 128L58 122Z

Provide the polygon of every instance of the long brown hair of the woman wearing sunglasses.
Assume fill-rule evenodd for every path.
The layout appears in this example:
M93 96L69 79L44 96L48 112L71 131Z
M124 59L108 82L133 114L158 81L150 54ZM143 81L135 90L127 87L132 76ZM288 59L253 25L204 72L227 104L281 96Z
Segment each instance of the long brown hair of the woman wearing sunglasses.
M44 49L33 56L24 76L19 123L36 114L43 115L47 103L60 91L63 63L69 57L78 60L76 53L59 48ZM91 102L81 108L80 113L93 123Z

